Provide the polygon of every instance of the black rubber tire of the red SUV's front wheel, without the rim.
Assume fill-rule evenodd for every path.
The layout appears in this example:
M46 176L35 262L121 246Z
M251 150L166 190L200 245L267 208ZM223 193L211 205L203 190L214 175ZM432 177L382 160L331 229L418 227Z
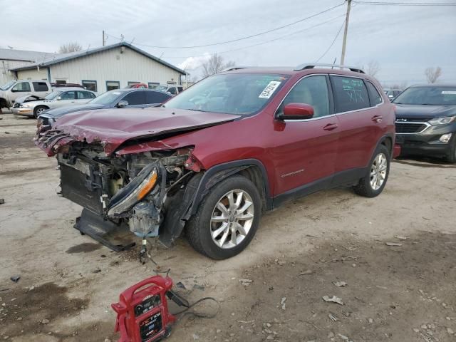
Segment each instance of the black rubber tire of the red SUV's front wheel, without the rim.
M234 247L222 248L212 239L211 218L217 203L232 190L242 190L252 199L253 221L244 239ZM209 194L199 204L197 213L187 224L187 239L199 253L211 259L222 260L242 252L252 241L261 217L261 198L257 187L246 177L234 175L214 185ZM231 233L229 233L231 237ZM228 238L227 238L228 239Z

